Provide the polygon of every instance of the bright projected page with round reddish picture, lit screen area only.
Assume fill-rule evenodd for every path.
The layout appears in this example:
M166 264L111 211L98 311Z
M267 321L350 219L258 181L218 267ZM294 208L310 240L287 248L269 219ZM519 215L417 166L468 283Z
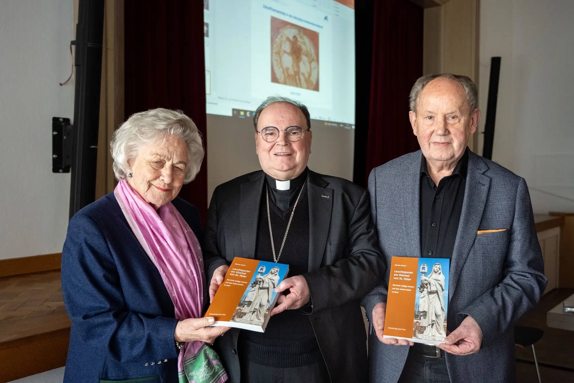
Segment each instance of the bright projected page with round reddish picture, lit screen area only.
M350 0L210 0L204 9L207 113L252 111L269 95L313 120L355 124Z

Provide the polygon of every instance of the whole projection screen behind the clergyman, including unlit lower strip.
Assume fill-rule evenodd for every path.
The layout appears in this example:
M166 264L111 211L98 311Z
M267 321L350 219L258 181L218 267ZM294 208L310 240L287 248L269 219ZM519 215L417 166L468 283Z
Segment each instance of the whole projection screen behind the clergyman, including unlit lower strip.
M354 0L204 0L208 199L258 170L253 111L269 95L308 106L309 168L352 179Z

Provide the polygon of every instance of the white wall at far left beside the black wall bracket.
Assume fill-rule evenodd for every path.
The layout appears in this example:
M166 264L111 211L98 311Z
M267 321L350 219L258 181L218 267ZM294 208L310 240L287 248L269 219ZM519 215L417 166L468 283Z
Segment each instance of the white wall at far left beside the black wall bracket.
M0 1L0 259L60 252L69 174L52 173L52 117L73 120L73 0Z

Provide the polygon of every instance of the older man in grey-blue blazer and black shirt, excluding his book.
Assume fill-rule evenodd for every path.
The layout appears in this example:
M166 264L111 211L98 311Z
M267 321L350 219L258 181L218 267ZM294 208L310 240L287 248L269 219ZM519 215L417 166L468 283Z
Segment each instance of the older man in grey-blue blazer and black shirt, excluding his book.
M546 286L523 178L467 148L480 110L466 76L423 76L410 94L421 150L375 168L373 220L391 256L450 258L447 338L426 346L383 338L389 271L364 297L370 381L513 382L513 324Z

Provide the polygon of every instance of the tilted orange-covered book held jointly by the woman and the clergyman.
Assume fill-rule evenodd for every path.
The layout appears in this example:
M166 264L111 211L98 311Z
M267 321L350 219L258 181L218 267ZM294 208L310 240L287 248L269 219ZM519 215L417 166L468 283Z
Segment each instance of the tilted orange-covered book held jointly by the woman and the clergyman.
M275 306L278 284L289 265L235 257L205 316L215 318L213 326L227 326L263 332Z

